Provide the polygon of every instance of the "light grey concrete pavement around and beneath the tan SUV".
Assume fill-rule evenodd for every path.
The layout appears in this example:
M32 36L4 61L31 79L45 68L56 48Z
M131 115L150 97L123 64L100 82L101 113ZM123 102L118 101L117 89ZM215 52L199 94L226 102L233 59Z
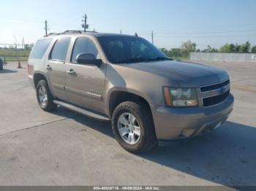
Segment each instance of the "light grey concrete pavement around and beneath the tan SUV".
M8 63L0 71L0 185L255 185L256 65L211 65L226 69L233 84L228 122L132 155L109 122L61 107L43 112L26 69Z

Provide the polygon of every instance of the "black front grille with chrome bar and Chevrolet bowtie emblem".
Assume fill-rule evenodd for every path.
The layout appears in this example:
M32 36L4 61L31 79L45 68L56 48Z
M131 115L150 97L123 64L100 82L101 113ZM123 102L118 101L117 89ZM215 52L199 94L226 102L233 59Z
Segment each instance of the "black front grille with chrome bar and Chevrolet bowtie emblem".
M200 93L203 106L214 106L222 103L230 95L230 80L200 87Z

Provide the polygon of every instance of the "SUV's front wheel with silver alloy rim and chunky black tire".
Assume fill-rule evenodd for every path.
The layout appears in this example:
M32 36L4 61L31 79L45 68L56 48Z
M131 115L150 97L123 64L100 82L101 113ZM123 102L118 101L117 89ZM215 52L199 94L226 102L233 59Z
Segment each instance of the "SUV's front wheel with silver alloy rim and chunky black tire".
M126 120L124 120L123 117ZM129 130L125 130L127 125L124 128L123 121L127 122L129 117L135 122L135 124L133 124L131 121L128 122L129 125L131 125L131 123L133 124L132 127L136 127L133 128L134 131L129 129L129 125ZM140 128L140 136L138 136L138 132L135 133L135 131L138 131L138 127ZM126 149L128 152L146 152L157 146L157 137L154 130L153 118L151 112L148 110L148 107L145 104L139 104L134 101L125 101L119 104L112 115L112 130L118 144L120 144L121 147ZM127 131L129 132L128 135L126 134ZM130 133L135 135L133 136L135 141L130 141ZM121 136L121 134L126 135Z

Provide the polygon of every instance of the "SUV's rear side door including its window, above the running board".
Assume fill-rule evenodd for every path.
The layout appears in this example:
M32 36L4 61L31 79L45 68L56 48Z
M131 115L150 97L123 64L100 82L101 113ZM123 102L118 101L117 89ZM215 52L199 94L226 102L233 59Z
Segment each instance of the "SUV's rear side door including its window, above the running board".
M45 64L53 95L64 101L67 101L67 95L64 91L66 74L65 63L70 40L70 37L60 37L57 39L50 51L48 63Z

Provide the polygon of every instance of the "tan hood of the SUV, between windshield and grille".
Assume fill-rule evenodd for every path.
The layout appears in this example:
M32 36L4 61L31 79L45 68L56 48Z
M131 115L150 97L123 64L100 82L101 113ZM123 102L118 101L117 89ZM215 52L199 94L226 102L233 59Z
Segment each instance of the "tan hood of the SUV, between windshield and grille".
M199 87L228 79L227 72L212 66L181 61L156 61L122 64L125 67L147 71L176 81L180 87Z

